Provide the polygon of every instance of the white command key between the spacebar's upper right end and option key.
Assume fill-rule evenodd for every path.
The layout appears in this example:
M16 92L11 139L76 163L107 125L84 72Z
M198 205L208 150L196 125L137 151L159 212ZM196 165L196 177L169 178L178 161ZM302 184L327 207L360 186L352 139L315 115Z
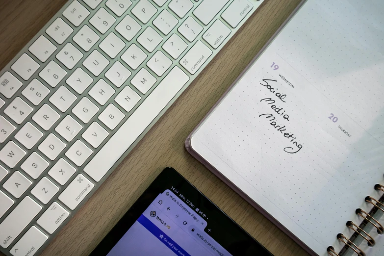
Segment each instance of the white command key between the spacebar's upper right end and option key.
M179 63L193 75L205 63L210 55L212 55L212 51L209 50L202 41L198 40L184 57L180 59Z

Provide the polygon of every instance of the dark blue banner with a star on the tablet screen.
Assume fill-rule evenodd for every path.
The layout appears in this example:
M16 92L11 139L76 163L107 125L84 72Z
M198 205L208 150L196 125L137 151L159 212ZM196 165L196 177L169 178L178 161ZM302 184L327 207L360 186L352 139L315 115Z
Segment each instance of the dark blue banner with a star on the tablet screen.
M168 235L164 234L159 228L157 228L147 217L141 215L137 220L141 225L144 226L148 231L150 231L157 239L159 239L163 244L165 244L172 252L179 256L190 256L185 252L174 240L169 238Z

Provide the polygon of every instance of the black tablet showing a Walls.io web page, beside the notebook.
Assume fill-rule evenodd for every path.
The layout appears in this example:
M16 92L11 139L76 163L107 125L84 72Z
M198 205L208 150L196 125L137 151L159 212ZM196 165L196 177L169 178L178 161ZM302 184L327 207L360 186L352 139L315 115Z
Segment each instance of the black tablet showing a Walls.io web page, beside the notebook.
M271 256L175 169L164 169L91 256Z

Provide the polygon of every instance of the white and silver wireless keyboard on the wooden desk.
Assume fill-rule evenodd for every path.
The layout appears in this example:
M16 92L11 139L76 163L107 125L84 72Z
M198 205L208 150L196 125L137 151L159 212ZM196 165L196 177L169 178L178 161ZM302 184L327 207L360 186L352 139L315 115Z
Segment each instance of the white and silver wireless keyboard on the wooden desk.
M0 71L0 251L42 252L262 1L68 1Z

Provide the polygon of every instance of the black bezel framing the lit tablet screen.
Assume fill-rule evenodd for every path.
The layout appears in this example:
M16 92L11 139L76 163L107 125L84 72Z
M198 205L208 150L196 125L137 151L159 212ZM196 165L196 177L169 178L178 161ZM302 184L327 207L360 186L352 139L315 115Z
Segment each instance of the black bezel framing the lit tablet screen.
M167 189L173 190L174 193L177 191L175 195L180 199L179 195L182 194L190 202L194 202L194 207L192 207L194 210L200 208L205 213L204 217L201 216L207 222L205 232L208 233L208 230L210 230L209 235L232 256L272 256L267 249L172 167L165 168L159 174L140 198L129 208L127 213L102 239L90 256L107 255L154 199Z

